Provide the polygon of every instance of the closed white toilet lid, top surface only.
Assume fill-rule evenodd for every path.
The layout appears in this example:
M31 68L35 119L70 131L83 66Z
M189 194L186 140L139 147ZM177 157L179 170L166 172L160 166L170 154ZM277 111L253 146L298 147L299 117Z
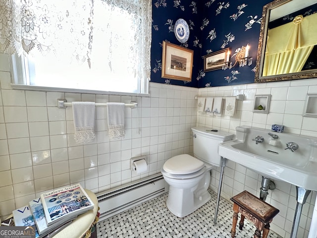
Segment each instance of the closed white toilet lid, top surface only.
M169 174L187 175L204 168L204 162L190 155L176 155L168 159L163 165L163 170Z

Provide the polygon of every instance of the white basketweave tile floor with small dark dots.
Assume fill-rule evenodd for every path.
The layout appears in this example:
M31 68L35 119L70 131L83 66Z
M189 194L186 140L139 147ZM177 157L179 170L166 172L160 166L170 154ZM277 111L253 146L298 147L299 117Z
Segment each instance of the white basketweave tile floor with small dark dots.
M99 222L97 238L231 238L232 204L220 199L217 225L214 226L216 193L209 191L211 200L183 218L168 211L165 193ZM255 226L246 219L243 231L237 226L235 238L253 238L254 232ZM281 237L270 231L268 238Z

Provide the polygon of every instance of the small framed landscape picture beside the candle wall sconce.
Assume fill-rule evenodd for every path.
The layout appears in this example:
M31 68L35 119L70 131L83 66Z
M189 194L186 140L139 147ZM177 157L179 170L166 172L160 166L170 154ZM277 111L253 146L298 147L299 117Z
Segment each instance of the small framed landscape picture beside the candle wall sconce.
M229 48L204 56L204 72L222 68L222 65L230 60L229 57Z

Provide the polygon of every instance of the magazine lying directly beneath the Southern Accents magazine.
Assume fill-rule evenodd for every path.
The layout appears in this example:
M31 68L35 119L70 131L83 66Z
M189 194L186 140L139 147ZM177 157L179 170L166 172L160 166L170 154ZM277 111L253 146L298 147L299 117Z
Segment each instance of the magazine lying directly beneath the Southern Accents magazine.
M52 226L48 226L46 219L45 219L45 214L44 214L44 209L42 205L42 200L41 198L34 199L29 202L31 212L34 218L34 222L36 225L36 228L39 232L39 234L48 234L55 229L59 228L61 225L67 223L68 221L74 220L77 215L74 216L64 216L63 219L59 220L58 222L54 223Z

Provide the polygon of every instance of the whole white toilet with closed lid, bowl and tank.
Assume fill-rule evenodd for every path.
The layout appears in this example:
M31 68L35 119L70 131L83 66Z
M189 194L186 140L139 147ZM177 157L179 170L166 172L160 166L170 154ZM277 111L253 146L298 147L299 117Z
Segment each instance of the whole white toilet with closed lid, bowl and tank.
M161 170L169 184L166 200L168 210L177 217L185 217L211 198L207 191L214 166L221 165L218 144L232 140L229 132L208 131L205 127L192 128L194 157L184 154L168 159Z

